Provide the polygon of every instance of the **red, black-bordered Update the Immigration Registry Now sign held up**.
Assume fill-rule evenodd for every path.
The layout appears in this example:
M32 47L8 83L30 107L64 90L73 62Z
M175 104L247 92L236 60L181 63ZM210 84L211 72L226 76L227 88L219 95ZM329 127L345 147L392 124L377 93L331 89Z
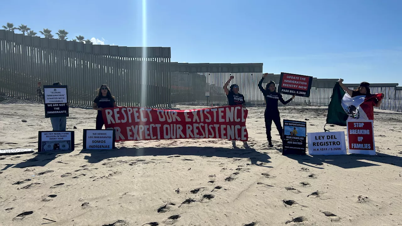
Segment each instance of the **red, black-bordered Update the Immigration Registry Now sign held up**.
M296 95L300 97L310 97L312 76L299 74L281 73L278 91L280 93Z

